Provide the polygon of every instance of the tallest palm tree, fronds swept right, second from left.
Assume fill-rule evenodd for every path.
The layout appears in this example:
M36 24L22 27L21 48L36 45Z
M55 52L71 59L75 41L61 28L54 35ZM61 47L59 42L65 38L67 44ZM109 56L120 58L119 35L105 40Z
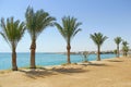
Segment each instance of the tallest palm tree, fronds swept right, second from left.
M36 39L38 35L48 26L52 26L52 22L56 20L50 16L49 13L44 10L38 10L34 12L33 8L28 7L25 13L26 17L26 28L31 35L31 69L36 69L35 65L35 50L36 50Z

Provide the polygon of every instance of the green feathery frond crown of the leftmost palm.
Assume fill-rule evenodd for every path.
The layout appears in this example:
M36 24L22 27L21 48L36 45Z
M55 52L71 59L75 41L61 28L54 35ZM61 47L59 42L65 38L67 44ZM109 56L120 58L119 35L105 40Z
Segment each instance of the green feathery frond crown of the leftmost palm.
M2 32L0 34L3 36L5 41L10 46L14 44L14 46L16 47L22 36L24 35L24 30L25 30L24 22L20 24L19 20L14 22L13 17L10 17L7 18L7 24L5 24L4 18L2 17L1 27L2 27Z

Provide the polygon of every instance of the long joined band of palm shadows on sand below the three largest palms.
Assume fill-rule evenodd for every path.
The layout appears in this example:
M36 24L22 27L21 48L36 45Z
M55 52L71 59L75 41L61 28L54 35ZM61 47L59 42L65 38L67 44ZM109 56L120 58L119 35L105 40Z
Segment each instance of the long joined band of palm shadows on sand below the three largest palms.
M29 78L36 79L37 77L47 77L51 75L58 75L58 74L73 74L73 73L83 73L87 72L83 69L73 69L73 67L52 67L52 69L45 69L45 67L38 67L36 70L29 69L29 70L19 70L22 73L25 73L25 75Z

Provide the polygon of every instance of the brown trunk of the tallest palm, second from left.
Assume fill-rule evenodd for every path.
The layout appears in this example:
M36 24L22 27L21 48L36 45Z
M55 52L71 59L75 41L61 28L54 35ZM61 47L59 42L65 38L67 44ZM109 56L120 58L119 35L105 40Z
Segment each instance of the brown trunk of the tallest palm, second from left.
M36 65L35 65L35 50L36 50L36 40L33 39L32 45L31 45L31 69L36 69Z

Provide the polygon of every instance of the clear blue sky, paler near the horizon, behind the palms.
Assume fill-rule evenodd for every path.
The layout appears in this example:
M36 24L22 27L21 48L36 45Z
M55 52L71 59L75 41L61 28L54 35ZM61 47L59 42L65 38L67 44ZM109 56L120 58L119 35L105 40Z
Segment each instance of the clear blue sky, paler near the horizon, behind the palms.
M90 35L102 33L108 39L102 51L115 50L114 38L121 37L131 48L131 0L0 0L0 18L14 16L25 21L26 8L43 9L61 24L63 16L74 16L82 22L82 30L71 41L71 51L96 51ZM1 30L1 27L0 27ZM19 42L17 52L29 52L31 37L25 32ZM37 52L64 52L67 44L57 27L47 27L37 38ZM121 48L121 46L120 46ZM11 48L0 36L0 52L11 52Z

